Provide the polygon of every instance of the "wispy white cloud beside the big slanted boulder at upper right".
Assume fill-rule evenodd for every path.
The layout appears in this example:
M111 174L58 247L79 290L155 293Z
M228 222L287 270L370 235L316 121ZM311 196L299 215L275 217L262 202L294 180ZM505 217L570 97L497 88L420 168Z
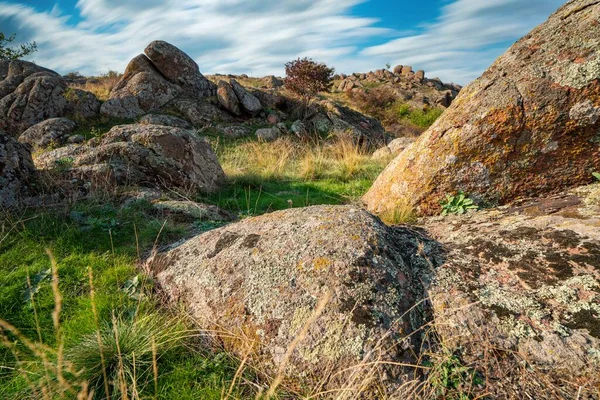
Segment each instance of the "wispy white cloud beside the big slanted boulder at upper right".
M564 0L456 0L422 32L364 49L363 57L413 65L428 76L467 83L516 41L545 21Z

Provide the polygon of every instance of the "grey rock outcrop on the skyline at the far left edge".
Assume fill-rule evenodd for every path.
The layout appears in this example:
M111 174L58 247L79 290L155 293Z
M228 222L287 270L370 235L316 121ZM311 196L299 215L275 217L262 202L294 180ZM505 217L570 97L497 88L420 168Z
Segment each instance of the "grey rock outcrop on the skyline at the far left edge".
M18 136L30 126L64 115L91 117L100 103L67 86L56 72L27 61L0 60L0 129Z

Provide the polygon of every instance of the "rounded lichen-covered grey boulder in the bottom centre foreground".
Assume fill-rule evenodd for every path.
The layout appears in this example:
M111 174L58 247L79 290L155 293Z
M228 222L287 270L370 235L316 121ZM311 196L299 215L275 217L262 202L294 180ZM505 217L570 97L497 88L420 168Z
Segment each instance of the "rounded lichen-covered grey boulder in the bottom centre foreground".
M415 237L354 207L316 206L202 234L150 267L171 300L267 373L281 367L288 346L331 294L292 353L286 377L339 388L376 370L395 378L380 388L391 393L407 370L358 364L411 360L408 335L421 322L411 310L422 294L415 271L427 268Z

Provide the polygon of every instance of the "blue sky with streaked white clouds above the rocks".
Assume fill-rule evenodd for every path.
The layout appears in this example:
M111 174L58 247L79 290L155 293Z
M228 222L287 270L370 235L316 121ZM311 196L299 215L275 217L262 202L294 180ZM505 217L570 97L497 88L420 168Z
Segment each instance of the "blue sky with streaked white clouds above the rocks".
M0 31L60 73L122 71L155 39L203 73L282 75L308 56L337 71L386 63L466 84L566 0L0 0Z

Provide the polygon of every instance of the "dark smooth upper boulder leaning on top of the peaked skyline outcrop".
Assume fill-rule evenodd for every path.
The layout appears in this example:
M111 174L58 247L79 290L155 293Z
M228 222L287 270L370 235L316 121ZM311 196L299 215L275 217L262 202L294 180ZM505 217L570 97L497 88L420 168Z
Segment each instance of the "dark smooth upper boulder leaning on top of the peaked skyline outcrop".
M200 73L190 56L172 44L155 40L144 53L169 82L181 87L182 95L193 98L215 95L215 84Z

